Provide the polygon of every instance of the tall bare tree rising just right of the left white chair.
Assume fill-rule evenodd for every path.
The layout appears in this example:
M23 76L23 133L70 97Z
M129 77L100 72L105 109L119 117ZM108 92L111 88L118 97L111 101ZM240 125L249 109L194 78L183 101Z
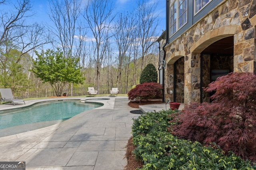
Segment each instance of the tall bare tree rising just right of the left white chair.
M110 24L114 20L112 11L113 8L109 0L89 0L85 8L84 19L93 36L93 59L96 64L96 84L98 90L100 86L100 69L106 56L106 50L108 49Z

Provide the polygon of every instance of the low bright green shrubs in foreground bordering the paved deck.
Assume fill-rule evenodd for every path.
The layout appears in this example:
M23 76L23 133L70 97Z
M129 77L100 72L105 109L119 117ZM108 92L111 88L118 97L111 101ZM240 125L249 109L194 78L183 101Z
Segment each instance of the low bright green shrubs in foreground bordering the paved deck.
M134 119L134 154L144 162L141 170L253 170L248 160L232 152L225 156L220 148L214 149L217 146L205 147L168 133L166 128L178 114L171 110L150 112Z

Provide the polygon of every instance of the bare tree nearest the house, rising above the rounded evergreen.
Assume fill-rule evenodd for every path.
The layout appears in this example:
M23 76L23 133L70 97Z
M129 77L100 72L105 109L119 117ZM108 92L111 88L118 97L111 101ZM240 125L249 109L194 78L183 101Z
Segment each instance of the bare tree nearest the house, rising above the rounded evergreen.
M150 48L155 42L156 27L159 24L156 7L158 1L138 0L136 15L138 19L138 39L141 48L141 68L144 66L144 57L150 53Z

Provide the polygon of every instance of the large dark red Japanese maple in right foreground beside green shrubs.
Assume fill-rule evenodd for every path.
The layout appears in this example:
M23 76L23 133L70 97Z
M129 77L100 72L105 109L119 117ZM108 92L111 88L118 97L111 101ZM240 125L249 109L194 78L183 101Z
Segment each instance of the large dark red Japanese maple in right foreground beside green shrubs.
M190 104L178 115L173 135L206 145L216 143L256 162L256 75L232 72L204 89L212 103Z

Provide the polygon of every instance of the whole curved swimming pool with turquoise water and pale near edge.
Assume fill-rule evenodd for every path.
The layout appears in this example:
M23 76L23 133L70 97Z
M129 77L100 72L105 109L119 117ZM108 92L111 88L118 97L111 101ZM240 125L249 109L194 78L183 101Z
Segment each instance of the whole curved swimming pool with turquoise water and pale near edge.
M0 111L0 137L6 136L6 133L13 135L16 134L17 131L18 133L22 133L54 125L83 111L100 106L103 106L103 104L80 102L76 100L42 102L21 109Z

